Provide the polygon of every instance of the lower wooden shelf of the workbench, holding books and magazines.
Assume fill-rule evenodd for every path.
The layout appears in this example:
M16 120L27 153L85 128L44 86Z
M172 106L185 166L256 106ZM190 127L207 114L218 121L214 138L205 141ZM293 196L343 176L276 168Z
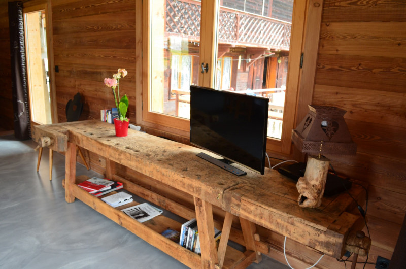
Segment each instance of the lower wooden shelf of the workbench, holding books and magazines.
M86 179L88 179L88 177L79 176L77 178L77 183ZM114 193L116 192L113 191L106 194L106 196ZM95 197L76 184L72 186L72 194L89 207L128 229L152 246L179 260L186 266L190 268L202 267L201 257L199 255L161 235L161 232L168 228L180 231L181 223L163 215L159 215L151 220L140 223L121 211L121 209L137 205L138 203L136 201L121 207L113 208L100 200L100 198L104 196ZM251 264L254 259L255 253L253 251L246 251L243 253L227 246L223 268L244 268ZM217 263L217 261L215 263Z

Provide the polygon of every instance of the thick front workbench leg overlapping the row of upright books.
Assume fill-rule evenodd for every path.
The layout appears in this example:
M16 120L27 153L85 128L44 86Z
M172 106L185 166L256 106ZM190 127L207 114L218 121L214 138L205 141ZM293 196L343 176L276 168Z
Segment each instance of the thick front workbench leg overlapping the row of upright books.
M214 223L212 204L193 197L196 209L196 221L199 229L199 241L201 249L201 267L219 268L217 259L216 242L214 241Z

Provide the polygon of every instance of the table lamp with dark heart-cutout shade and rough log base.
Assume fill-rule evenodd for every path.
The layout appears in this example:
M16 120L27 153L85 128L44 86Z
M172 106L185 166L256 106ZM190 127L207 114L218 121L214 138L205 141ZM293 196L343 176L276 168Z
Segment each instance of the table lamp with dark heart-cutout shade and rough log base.
M321 205L330 160L324 155L355 155L357 144L352 139L344 120L345 110L309 105L309 113L292 130L292 142L308 161L304 176L296 184L300 207L317 208Z

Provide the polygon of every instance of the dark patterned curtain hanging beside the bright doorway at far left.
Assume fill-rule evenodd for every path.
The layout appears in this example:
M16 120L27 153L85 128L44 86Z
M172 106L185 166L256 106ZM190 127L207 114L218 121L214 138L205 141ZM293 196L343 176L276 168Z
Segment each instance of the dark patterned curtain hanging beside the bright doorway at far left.
M21 2L9 2L11 78L13 82L14 136L30 138L27 69Z

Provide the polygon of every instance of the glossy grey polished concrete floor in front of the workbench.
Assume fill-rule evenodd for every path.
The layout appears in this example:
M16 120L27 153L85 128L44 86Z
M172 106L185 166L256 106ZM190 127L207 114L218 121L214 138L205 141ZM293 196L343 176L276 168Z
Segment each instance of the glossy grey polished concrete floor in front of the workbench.
M64 199L64 156L48 150L37 173L37 146L0 135L0 268L186 268L76 200ZM100 176L78 164L78 175ZM286 269L263 256L249 268Z

